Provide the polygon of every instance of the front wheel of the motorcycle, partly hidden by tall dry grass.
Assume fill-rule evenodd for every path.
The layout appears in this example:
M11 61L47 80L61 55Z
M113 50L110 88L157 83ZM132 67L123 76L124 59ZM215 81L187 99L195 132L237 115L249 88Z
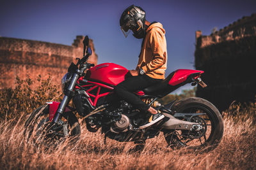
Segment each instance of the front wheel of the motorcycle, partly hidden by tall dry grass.
M49 120L49 104L37 108L25 123L24 135L35 145L56 146L66 139L74 142L81 133L79 122L72 111L63 113L58 124Z

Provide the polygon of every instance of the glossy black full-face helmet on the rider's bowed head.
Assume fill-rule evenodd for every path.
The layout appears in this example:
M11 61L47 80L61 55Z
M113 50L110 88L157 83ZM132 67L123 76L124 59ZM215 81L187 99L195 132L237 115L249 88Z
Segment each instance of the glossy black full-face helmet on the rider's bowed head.
M144 38L147 30L145 25L146 12L140 8L140 6L134 6L133 4L126 8L120 17L121 30L124 33L125 38L132 30L135 38Z

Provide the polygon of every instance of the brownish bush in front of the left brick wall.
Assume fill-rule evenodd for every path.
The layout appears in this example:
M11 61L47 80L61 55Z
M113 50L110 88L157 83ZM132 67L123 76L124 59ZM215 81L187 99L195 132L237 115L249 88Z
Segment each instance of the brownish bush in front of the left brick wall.
M0 91L0 119L19 118L20 113L31 113L46 101L60 97L60 87L51 85L51 76L42 80L39 75L35 81L31 78L16 78L15 88ZM32 88L33 87L33 88Z

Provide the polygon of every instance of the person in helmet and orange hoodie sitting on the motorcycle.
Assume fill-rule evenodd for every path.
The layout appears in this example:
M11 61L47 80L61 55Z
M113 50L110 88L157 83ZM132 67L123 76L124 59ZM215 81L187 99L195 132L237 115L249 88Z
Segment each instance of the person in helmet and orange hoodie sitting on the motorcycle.
M164 79L167 64L166 39L163 25L159 22L148 22L145 19L145 11L140 6L129 6L120 17L120 26L125 38L129 31L135 38L143 38L138 65L135 70L130 70L131 76L115 87L115 94L124 99L140 111L148 111L152 114L148 127L164 118L151 106L145 104L133 92L154 85Z

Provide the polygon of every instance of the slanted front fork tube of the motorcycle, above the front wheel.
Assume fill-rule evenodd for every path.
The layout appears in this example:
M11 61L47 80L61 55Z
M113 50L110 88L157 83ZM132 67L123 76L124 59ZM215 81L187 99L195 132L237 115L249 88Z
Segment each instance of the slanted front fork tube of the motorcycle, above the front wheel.
M79 78L79 74L74 73L67 90L65 90L65 96L63 97L63 99L60 103L60 107L58 108L58 110L56 112L56 116L53 119L54 123L57 123L59 121L59 119L62 117L62 114L63 114L68 102L70 101L70 97L72 97L73 89L76 85L76 81L78 80L78 78Z

